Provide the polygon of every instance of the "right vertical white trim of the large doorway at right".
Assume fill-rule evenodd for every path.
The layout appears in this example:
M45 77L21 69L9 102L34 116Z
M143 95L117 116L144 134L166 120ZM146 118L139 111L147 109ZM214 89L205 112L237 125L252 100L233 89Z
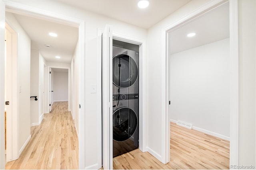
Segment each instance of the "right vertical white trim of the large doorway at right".
M238 165L238 111L239 111L239 72L238 72L238 0L230 0L230 165Z

